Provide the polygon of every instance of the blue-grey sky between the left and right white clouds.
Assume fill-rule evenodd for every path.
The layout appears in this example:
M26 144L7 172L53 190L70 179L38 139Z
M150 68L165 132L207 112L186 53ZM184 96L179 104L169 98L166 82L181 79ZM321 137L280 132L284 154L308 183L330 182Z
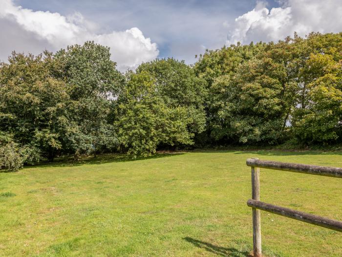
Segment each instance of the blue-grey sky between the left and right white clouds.
M80 12L100 25L101 32L138 27L156 42L160 57L192 59L201 46L222 47L227 30L222 23L252 10L254 0L16 0L35 11L64 16ZM269 7L279 5L268 1ZM184 48L182 51L179 48ZM197 52L195 53L194 51Z

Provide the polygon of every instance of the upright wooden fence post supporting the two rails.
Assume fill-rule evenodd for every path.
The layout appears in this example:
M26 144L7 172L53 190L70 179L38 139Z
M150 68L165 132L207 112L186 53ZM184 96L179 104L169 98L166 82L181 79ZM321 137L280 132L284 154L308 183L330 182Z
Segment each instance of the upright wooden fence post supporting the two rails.
M258 160L259 158L252 158ZM260 169L252 166L252 199L260 201ZM261 257L261 225L260 210L252 208L253 213L253 255Z

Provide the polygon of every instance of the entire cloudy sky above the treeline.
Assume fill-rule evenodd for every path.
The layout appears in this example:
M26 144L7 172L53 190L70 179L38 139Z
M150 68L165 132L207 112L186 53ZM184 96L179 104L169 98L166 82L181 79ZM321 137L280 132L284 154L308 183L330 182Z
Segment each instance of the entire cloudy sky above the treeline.
M0 0L0 60L86 40L122 71L156 57L187 63L206 48L342 31L342 0Z

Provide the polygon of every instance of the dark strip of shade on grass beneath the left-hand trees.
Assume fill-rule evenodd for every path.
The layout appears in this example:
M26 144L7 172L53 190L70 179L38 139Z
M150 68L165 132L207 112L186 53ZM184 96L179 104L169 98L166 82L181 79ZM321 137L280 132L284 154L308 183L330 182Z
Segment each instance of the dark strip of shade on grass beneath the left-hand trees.
M107 163L119 163L119 162L133 162L133 161L138 161L138 160L166 158L166 157L172 157L175 155L182 155L182 154L184 153L183 152L163 152L163 153L156 153L149 157L138 157L136 159L132 159L128 157L126 154L102 154L102 155L98 155L95 158L93 156L82 156L80 157L80 160L78 161L73 161L72 157L60 158L60 159L57 159L53 163L42 162L34 166L36 167L47 167L47 166L48 167L67 167L67 166L79 166L79 165L84 165L84 164L107 164Z

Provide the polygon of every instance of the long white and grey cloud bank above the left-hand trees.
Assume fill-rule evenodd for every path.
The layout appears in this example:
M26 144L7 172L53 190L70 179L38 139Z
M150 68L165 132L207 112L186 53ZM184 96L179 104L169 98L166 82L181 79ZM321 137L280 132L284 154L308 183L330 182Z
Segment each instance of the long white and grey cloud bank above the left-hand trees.
M118 63L119 70L134 69L159 54L157 45L136 27L107 34L96 34L96 28L96 24L86 21L80 13L65 17L1 0L0 59L6 60L12 50L37 54L44 49L55 51L87 40L110 47L111 58Z

